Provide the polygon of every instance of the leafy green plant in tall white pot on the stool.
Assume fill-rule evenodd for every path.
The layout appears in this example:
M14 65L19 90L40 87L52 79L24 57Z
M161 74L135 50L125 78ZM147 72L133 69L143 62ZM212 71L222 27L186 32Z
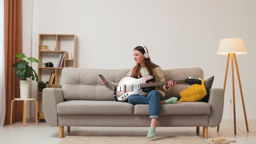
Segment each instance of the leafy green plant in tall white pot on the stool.
M24 53L22 54L17 54L15 61L21 58L20 61L17 61L13 64L13 68L15 68L15 70L13 70L13 73L16 71L16 74L18 76L20 80L20 98L22 99L27 99L28 98L28 91L29 91L29 84L30 81L27 81L27 78L32 78L32 80L36 80L38 81L38 76L36 71L34 71L34 69L28 65L29 62L36 62L38 63L38 60L36 58L33 57L26 57L24 55ZM25 60L26 58L26 60Z

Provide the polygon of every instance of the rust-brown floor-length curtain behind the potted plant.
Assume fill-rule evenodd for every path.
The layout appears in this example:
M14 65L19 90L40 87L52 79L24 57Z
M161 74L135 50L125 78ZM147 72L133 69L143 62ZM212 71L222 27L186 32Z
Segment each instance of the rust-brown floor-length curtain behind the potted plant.
M5 124L10 124L11 100L20 98L20 82L12 65L15 55L22 53L21 0L4 0L4 76ZM13 122L22 121L22 101L13 104Z

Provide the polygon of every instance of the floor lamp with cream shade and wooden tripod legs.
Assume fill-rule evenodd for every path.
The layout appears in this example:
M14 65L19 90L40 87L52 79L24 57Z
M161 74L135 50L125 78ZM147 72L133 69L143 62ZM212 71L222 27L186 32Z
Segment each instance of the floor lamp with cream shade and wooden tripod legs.
M242 39L239 38L228 38L228 39L222 39L219 43L219 49L217 51L217 55L228 55L228 59L226 61L226 73L225 73L225 80L224 80L224 92L226 87L226 76L228 74L228 68L229 68L229 57L231 56L231 66L232 66L232 89L233 89L233 109L234 109L234 134L236 135L236 104L235 104L235 83L234 83L234 60L236 64L236 72L237 72L237 79L240 87L240 94L242 99L242 105L243 105L243 114L245 115L245 122L246 122L246 129L247 132L249 132L249 127L247 123L247 116L246 116L246 109L245 109L245 102L243 101L243 91L240 81L240 75L238 71L238 65L236 60L236 55L246 54L247 50L245 48L245 44L243 43ZM219 126L217 131L219 131Z

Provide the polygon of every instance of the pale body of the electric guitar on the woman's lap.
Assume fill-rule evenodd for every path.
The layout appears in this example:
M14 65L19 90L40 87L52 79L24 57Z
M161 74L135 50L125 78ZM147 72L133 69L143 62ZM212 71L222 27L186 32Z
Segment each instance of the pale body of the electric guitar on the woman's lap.
M147 83L150 80L153 80L152 75L147 75L144 77L141 77L140 79L135 79L130 76L124 76L119 82L117 86L117 100L118 101L125 101L128 99L128 97L132 94L139 94L142 96L145 96L149 93L150 90L154 89L152 88L139 88L138 83ZM143 91L143 89L147 89L146 92Z

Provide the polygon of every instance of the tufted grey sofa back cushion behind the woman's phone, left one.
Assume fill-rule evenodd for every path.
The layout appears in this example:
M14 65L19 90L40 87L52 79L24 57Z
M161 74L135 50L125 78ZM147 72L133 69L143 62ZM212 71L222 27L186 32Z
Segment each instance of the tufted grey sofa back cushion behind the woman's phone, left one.
M114 100L114 92L103 86L98 74L106 79L118 82L129 69L80 69L62 70L62 91L65 100Z

